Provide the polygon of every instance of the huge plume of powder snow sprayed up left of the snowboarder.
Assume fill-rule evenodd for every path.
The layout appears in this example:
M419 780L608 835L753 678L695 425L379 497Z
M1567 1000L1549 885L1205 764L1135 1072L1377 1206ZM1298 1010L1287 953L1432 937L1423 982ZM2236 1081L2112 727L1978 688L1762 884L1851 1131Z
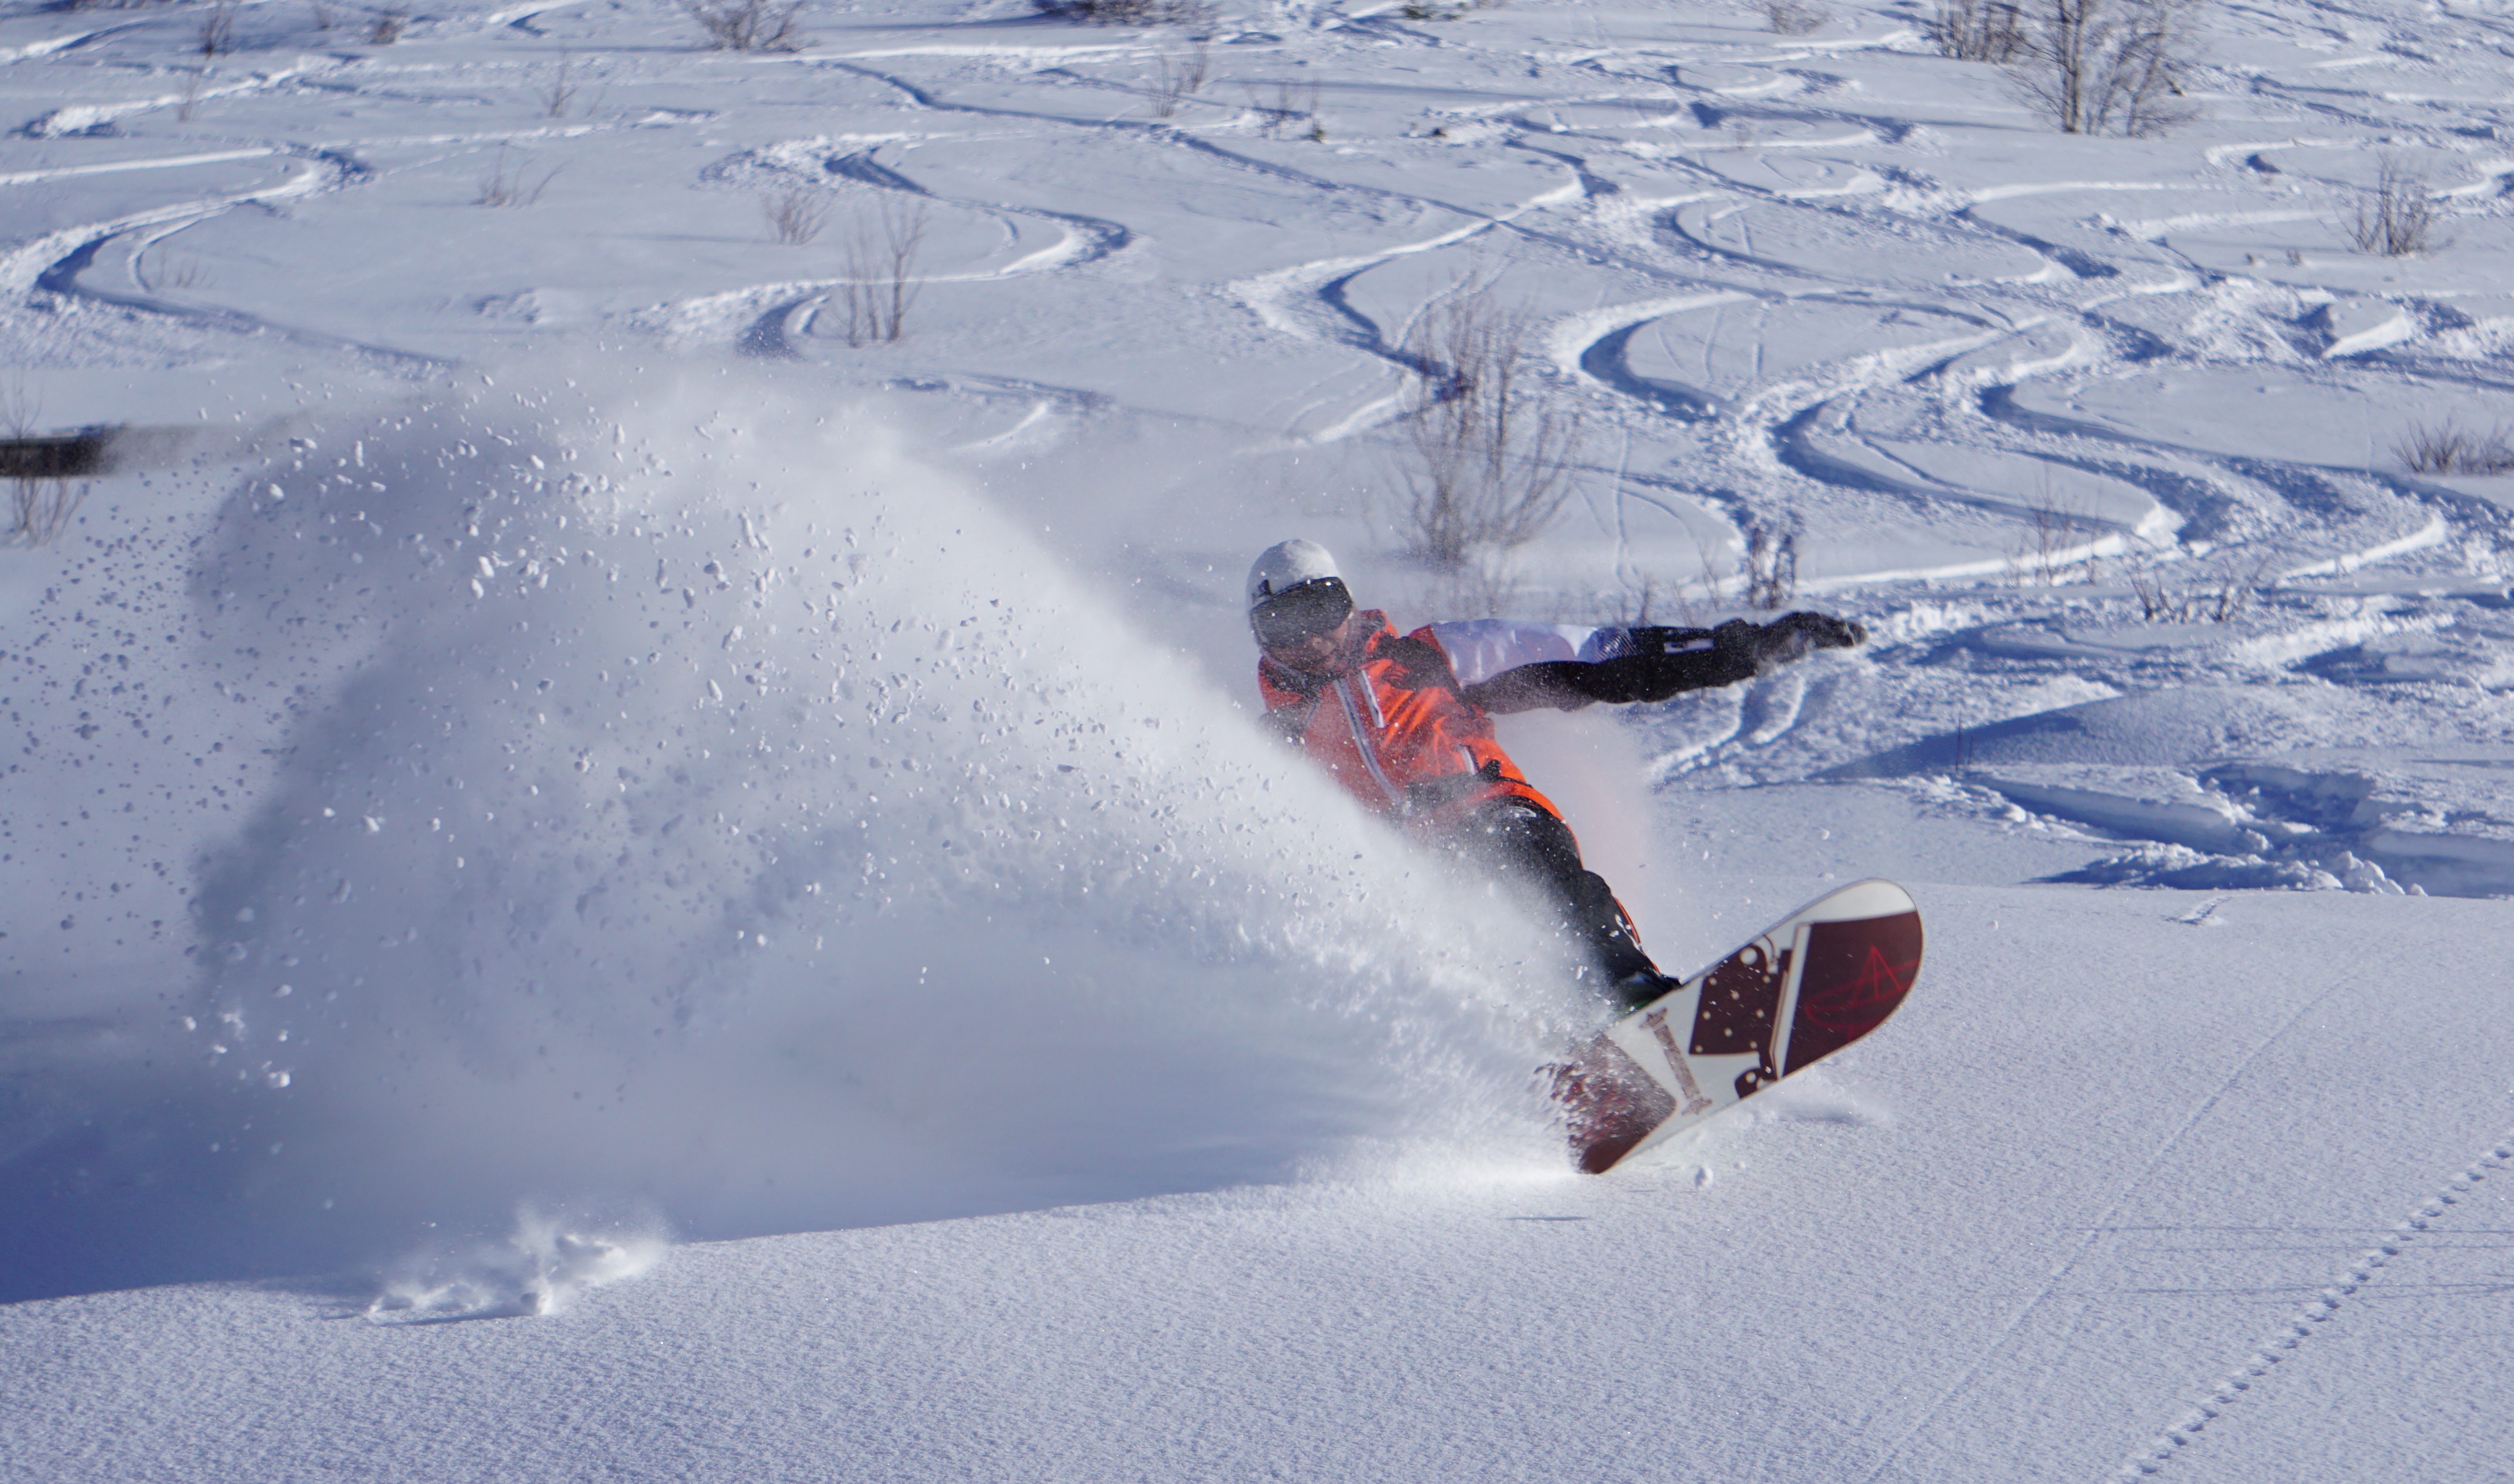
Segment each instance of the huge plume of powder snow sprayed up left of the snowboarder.
M151 1220L284 1270L525 1197L716 1238L1541 1142L1523 921L872 418L571 375L309 425L194 556L196 682L279 709L191 1082L126 1109L181 1124L126 1139L189 1165Z

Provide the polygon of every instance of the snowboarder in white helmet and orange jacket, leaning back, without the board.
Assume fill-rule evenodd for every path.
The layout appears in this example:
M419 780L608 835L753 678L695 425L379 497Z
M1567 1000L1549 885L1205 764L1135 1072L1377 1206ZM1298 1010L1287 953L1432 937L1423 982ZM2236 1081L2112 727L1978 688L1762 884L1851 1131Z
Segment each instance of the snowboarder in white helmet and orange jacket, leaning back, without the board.
M1609 1004L1667 991L1614 890L1581 865L1561 810L1493 742L1493 714L1591 702L1664 702L1750 679L1810 649L1865 639L1850 619L1782 614L1717 629L1576 629L1468 619L1398 634L1355 609L1315 541L1270 546L1249 568L1249 629L1265 656L1267 722L1365 807L1516 883L1561 921L1581 978Z

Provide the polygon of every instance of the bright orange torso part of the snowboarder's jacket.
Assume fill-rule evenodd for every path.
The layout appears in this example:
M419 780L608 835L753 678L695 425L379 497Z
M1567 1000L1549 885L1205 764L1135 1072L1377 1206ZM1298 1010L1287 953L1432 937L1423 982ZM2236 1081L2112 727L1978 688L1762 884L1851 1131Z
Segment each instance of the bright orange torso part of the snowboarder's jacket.
M1355 616L1363 639L1345 654L1342 674L1257 662L1267 722L1365 807L1428 833L1496 797L1521 797L1561 817L1493 742L1493 722L1466 699L1435 626L1398 636L1378 609Z

